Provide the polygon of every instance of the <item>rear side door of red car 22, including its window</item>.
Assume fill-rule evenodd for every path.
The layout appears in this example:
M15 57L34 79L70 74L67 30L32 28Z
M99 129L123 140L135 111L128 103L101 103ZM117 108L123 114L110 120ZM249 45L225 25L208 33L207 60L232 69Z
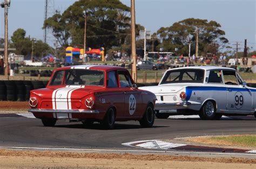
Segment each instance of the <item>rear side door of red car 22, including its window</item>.
M122 117L124 114L125 106L125 95L122 89L118 85L117 71L111 71L107 73L107 91L106 91L106 101L110 102L116 107L116 117Z

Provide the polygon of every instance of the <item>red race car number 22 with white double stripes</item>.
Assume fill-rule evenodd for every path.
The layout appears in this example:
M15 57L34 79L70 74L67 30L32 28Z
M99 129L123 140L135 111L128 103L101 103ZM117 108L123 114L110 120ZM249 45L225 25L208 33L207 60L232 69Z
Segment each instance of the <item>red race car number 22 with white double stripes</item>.
M65 119L100 122L106 129L128 120L151 127L155 102L156 96L138 89L123 67L79 65L55 69L46 88L31 90L28 111L45 126Z

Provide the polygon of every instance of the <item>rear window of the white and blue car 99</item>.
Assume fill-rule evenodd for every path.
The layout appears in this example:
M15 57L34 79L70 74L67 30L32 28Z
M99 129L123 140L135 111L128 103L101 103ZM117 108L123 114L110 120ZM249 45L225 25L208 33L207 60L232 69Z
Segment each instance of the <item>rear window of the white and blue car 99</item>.
M177 69L168 71L161 84L168 83L203 83L204 70L203 69Z

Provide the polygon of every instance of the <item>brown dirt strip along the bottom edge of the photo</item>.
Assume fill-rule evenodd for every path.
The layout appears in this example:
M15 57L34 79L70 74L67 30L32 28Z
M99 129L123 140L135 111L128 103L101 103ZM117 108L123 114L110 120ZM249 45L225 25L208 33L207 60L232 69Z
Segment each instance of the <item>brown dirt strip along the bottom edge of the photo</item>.
M57 151L0 150L0 164L16 167L97 168L255 168L256 159L199 158L190 156L134 155L130 153L76 153Z

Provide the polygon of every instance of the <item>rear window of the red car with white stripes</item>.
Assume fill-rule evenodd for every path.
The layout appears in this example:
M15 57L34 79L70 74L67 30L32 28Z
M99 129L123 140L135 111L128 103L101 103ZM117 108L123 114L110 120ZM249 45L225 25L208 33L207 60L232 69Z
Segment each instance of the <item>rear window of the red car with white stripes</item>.
M58 71L53 75L50 85L104 86L104 72L87 69Z

